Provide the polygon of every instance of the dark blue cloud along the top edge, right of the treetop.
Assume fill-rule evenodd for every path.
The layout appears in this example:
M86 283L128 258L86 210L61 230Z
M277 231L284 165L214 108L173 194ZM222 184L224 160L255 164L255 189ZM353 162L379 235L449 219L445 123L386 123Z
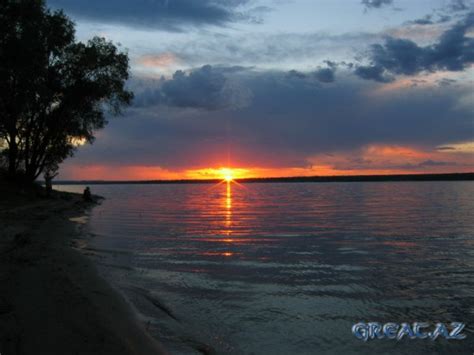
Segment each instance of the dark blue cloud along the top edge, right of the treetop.
M53 8L99 22L181 31L186 26L261 22L268 8L245 9L249 0L48 0Z

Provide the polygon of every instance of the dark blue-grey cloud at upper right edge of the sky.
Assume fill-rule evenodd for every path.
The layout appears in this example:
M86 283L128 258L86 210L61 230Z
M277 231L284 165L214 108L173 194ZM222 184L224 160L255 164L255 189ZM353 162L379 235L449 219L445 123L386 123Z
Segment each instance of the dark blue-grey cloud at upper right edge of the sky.
M445 31L438 42L421 47L408 39L387 37L385 43L371 46L370 65L355 73L363 79L380 82L393 75L415 75L423 71L462 71L474 63L474 39L466 32L474 27L474 13Z

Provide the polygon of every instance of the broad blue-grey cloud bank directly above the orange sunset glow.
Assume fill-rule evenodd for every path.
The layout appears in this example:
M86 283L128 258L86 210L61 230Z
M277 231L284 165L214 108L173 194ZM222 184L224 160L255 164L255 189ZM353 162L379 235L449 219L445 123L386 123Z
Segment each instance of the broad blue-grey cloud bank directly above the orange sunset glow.
M462 86L409 87L391 95L342 70L331 85L302 80L298 72L224 72L206 67L196 69L195 77L179 74L168 80L166 92L173 99L134 107L126 120L111 120L94 146L81 149L74 161L189 168L221 164L229 154L236 166L304 167L312 156L368 145L434 151L473 138L472 107L459 101L469 94ZM179 99L185 91L219 92L225 84L218 73L251 91L252 100L239 110L217 110L224 106L208 105L212 95ZM214 75L218 84L207 83ZM164 82L158 84L163 87ZM182 109L203 102L212 109ZM426 168L430 164L424 163Z

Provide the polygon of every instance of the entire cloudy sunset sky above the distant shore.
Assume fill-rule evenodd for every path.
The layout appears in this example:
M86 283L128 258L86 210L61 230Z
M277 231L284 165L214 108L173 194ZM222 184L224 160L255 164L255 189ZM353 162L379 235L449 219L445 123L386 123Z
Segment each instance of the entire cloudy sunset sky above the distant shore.
M60 179L474 171L474 0L48 0L134 103Z

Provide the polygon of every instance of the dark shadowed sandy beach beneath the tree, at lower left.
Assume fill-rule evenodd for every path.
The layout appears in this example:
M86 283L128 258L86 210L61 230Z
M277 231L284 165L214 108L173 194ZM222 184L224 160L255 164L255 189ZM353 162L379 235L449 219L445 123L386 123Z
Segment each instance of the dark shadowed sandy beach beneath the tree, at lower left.
M162 354L124 298L76 250L80 195L0 184L0 353Z

